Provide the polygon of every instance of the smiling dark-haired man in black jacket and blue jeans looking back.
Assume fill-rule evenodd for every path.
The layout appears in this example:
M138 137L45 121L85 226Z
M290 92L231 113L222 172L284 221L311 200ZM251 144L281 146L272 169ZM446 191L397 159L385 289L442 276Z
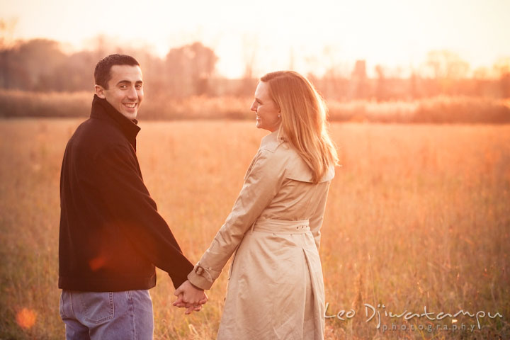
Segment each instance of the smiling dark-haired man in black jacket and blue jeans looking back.
M94 71L91 115L67 143L60 178L60 314L67 339L152 339L155 267L186 285L186 313L207 301L142 180L136 155L140 64L109 55Z

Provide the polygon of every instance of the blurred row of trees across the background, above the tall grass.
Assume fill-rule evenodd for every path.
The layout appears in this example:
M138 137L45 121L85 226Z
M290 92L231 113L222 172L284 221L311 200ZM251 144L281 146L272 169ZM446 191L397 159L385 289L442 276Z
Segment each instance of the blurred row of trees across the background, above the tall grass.
M133 55L142 64L147 92L171 98L188 96L251 96L256 86L253 65L246 64L242 79L225 79L215 72L217 55L201 42L172 48L164 58L147 50L115 47L98 38L94 50L62 52L59 42L35 39L6 46L0 40L0 89L22 91L91 91L96 62L113 52ZM307 74L327 99L339 101L409 101L434 96L510 97L510 58L492 69L470 72L458 55L431 51L426 62L402 77L402 72L375 67L368 77L364 60L352 71L331 67L324 75ZM469 76L469 77L468 77Z

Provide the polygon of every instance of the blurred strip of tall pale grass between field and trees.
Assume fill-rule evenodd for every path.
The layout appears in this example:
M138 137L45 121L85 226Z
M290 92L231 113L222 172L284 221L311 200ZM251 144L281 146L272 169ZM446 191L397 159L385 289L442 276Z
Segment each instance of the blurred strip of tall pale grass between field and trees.
M82 117L89 92L38 93L0 89L0 117ZM150 120L243 120L253 118L250 97L172 98L147 93L140 116ZM374 123L510 123L510 101L437 96L414 101L327 101L333 121Z

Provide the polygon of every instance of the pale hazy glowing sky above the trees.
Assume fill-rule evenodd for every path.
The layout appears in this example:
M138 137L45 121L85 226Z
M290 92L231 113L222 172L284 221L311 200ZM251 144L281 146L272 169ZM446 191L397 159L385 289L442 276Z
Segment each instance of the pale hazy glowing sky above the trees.
M0 0L17 18L13 38L50 38L81 49L99 34L164 56L195 40L212 47L217 69L238 77L292 65L320 74L357 59L417 67L430 50L457 52L472 69L510 57L510 0L63 1Z

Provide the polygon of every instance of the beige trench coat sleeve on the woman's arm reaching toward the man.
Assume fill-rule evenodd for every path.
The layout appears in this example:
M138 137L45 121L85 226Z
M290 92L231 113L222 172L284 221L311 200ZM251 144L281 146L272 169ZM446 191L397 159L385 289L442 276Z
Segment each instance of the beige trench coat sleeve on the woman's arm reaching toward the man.
M225 224L188 274L188 280L209 289L242 241L244 233L271 203L283 183L284 160L273 152L259 149L244 177L244 183Z

